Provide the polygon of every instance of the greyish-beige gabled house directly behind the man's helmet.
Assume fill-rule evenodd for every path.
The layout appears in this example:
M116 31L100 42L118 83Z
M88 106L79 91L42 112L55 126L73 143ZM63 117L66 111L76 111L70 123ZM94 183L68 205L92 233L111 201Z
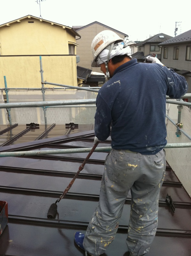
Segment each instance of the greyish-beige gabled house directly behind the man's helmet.
M79 65L84 68L92 69L94 72L101 72L100 68L92 68L92 51L91 51L91 44L93 38L103 30L112 30L121 38L128 37L127 34L124 34L114 28L110 28L98 21L94 21L86 26L73 26L78 33L80 33L81 38L77 40L78 47L76 49L77 55L80 56Z

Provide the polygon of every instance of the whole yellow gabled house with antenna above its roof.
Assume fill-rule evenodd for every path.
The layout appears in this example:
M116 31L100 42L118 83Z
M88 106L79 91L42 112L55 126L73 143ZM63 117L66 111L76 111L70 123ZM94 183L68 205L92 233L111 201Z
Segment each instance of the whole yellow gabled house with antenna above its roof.
M44 80L77 86L76 37L73 28L32 15L0 25L0 87L6 76L8 88L40 88L40 55Z

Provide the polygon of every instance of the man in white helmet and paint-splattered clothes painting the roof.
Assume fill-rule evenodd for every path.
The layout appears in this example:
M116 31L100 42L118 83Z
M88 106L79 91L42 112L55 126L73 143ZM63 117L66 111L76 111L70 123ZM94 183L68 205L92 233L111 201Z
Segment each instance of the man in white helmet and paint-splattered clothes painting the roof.
M92 67L100 66L110 79L96 99L95 139L110 135L99 204L85 234L75 233L85 255L104 253L114 240L126 197L131 190L131 212L126 239L130 256L149 251L157 229L159 192L166 160L166 95L180 99L187 92L183 76L149 56L139 63L112 31L92 41Z

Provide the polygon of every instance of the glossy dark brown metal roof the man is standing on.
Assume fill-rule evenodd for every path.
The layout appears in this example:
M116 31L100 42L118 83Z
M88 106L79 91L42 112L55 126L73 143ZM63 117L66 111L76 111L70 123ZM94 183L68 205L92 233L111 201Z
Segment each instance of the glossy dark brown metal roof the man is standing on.
M48 125L48 128L51 125ZM7 126L1 126L3 131ZM26 129L15 126L0 135L0 144ZM47 128L47 127L46 127ZM5 151L92 147L93 125L74 130L65 125L29 130ZM40 136L42 134L42 136ZM66 135L64 135L66 134ZM42 139L37 138L42 137ZM99 147L110 146L110 137ZM8 202L9 223L0 236L0 255L11 256L82 256L74 243L76 231L85 232L99 200L99 188L107 153L94 152L75 180L68 194L58 203L58 215L47 219L52 203L60 197L77 172L87 153L49 156L0 157L0 200ZM166 203L171 196L175 212ZM125 243L131 194L124 205L114 242L104 256L128 256ZM174 171L167 164L160 193L157 234L147 256L190 256L191 198Z

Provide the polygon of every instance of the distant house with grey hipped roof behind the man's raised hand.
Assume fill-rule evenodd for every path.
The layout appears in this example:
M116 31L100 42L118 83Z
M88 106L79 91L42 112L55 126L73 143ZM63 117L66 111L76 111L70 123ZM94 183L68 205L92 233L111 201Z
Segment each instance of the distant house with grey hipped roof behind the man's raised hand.
M158 46L158 44L170 38L172 38L172 36L160 33L136 44L135 47L138 48L138 51L132 54L132 58L137 59L139 62L143 62L145 60L145 57L151 55L152 53L155 53L157 54L157 58L160 60L161 48Z

